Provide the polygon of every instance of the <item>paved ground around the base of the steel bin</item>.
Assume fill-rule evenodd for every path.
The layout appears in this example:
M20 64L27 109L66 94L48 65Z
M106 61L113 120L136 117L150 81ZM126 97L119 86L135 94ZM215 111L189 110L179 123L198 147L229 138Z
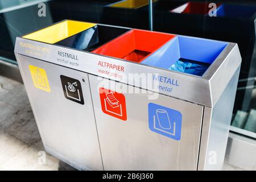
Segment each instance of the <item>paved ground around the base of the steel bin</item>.
M0 171L75 170L51 155L42 159L42 151L24 85L0 76ZM223 170L242 169L225 163Z

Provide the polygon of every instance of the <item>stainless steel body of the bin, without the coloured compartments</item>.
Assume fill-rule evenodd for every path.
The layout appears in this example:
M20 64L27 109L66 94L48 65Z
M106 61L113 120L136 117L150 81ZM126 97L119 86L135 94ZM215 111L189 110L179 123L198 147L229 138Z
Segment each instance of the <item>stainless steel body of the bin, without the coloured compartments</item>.
M227 43L203 76L24 38L16 38L15 56L49 154L78 169L221 169L241 65L237 44ZM50 92L36 88L30 65L46 72ZM130 74L146 77L131 82ZM84 103L67 98L61 76L80 83ZM170 78L171 92L159 89L170 82L154 80L157 86L150 86L154 76ZM102 88L117 93L120 113L106 106Z

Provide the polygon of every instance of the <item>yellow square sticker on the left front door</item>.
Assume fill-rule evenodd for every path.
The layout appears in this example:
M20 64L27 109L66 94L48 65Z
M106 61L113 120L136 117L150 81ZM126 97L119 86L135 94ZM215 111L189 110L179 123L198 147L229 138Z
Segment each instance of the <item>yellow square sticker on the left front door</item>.
M33 65L29 65L29 68L34 86L46 92L51 92L46 71L43 68L35 67Z

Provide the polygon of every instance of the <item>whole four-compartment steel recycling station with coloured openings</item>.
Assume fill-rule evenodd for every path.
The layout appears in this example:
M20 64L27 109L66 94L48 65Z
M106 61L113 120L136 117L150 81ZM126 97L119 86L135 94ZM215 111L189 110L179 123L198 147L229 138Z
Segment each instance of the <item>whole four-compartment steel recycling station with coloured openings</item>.
M63 20L16 38L15 56L45 150L71 166L222 168L236 43Z

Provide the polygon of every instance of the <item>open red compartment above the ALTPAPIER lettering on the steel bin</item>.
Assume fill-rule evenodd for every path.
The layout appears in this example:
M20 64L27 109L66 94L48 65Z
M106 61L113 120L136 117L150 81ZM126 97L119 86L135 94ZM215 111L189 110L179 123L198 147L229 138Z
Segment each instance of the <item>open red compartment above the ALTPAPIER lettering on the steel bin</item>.
M141 62L175 35L145 30L131 30L95 49L93 53Z

